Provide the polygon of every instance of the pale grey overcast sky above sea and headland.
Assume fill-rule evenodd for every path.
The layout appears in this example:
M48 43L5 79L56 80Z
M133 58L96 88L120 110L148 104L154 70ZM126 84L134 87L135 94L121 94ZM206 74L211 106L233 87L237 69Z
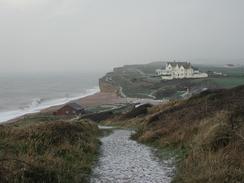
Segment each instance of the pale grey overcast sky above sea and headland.
M1 72L243 58L244 0L0 0Z

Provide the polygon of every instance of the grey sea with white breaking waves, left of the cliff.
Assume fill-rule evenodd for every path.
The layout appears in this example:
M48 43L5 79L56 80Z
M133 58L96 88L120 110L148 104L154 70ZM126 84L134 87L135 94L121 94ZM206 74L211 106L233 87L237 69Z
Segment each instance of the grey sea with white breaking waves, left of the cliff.
M0 123L95 94L103 74L0 74Z

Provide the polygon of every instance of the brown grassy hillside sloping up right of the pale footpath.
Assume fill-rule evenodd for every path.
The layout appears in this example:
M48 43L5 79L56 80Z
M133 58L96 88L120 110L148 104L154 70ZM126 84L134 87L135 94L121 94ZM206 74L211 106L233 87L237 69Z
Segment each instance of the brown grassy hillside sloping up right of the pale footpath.
M240 86L154 106L124 126L137 126L132 138L158 148L161 157L176 157L173 183L243 183L243 109Z

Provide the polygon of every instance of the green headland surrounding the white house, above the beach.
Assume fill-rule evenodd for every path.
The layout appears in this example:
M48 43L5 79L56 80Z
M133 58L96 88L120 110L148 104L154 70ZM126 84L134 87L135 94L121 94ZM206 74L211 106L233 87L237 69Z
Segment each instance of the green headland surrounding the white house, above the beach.
M155 77L155 70L164 63L156 62L145 65L126 65L109 73L102 81L115 88L122 88L128 97L156 99L180 99L187 88L190 93L200 93L205 88L222 89L232 88L244 84L244 67L224 68L214 66L196 66L203 72L209 73L209 78L183 79L162 81ZM220 73L216 75L214 73ZM222 74L222 75L221 75ZM106 80L106 78L109 80Z

